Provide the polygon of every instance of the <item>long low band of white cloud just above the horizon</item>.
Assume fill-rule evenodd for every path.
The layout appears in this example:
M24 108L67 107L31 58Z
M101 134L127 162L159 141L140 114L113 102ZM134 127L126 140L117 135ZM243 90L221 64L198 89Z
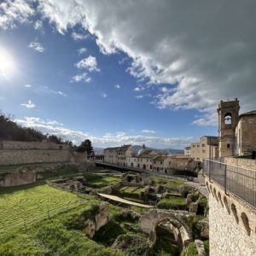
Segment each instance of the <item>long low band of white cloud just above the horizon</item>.
M130 136L123 131L115 133L105 133L102 137L95 137L84 131L75 131L65 128L63 124L56 120L40 119L38 117L25 117L24 119L16 119L18 124L32 127L44 134L56 135L63 139L71 140L73 143L79 144L84 139L88 138L92 141L95 147L112 147L121 144L142 145L146 144L148 147L154 148L183 148L189 143L195 141L195 137L152 137L152 136Z

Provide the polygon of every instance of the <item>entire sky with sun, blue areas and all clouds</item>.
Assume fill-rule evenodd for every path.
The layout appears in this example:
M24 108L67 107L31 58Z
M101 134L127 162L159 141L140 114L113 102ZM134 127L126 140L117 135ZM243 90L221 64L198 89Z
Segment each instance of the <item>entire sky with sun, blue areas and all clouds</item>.
M218 136L256 109L255 1L0 1L0 109L94 147Z

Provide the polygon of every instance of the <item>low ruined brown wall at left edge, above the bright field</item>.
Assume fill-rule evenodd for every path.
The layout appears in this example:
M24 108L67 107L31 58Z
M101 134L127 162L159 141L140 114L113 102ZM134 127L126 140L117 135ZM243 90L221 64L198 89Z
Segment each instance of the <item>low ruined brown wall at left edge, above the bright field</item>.
M37 174L35 172L15 172L8 173L0 180L0 186L12 187L29 183L35 183Z

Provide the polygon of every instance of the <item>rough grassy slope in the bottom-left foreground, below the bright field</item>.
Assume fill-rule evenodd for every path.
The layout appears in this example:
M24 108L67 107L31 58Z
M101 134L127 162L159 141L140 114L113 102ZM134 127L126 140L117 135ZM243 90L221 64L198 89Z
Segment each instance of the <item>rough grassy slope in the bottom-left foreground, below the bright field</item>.
M28 230L0 236L0 255L122 255L117 250L96 244L78 230L67 229L68 221L84 215L99 203L95 197L85 197L90 200L84 205L34 224Z

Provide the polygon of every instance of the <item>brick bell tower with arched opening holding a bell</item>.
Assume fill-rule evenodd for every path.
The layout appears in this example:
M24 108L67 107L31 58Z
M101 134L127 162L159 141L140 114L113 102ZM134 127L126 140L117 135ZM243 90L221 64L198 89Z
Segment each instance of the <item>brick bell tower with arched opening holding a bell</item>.
M231 156L235 152L236 125L239 121L239 101L219 102L218 104L218 155Z

